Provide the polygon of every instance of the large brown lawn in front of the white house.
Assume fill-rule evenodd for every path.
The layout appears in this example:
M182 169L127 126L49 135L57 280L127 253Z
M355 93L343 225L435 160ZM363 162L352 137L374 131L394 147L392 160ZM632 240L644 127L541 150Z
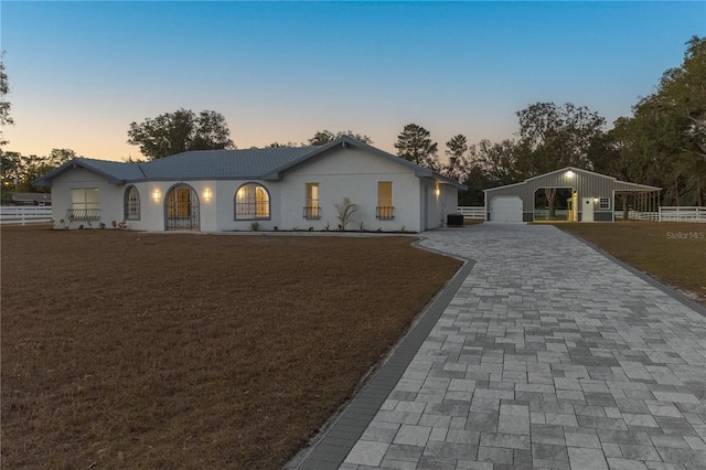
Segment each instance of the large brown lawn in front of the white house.
M0 235L8 469L280 468L460 266L409 237Z

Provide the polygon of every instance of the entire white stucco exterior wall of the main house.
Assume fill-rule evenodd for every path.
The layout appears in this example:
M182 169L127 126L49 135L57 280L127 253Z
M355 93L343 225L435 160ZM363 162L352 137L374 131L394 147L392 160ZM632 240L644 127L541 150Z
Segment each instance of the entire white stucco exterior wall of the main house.
M377 220L377 183L393 183L393 220ZM284 173L279 181L258 180L204 180L204 181L150 181L129 184L113 184L105 178L82 168L72 169L57 177L52 185L53 218L65 217L72 207L71 190L76 188L98 188L100 197L100 221L92 222L98 227L113 228L113 222L125 218L125 192L135 185L140 195L140 220L126 221L129 229L165 229L165 201L169 191L178 184L191 186L199 196L200 229L202 232L250 231L254 221L235 221L235 194L246 183L264 186L269 193L270 217L257 220L259 229L336 231L338 211L344 197L357 205L346 229L361 227L367 231L422 232L446 224L446 216L457 212L458 191L447 184L419 179L414 170L389 159L357 148L335 149L317 156ZM303 218L307 183L319 183L319 205L321 218ZM439 194L437 195L437 191ZM159 199L156 200L156 191ZM211 193L206 200L205 192ZM82 223L76 221L71 228ZM83 223L87 226L87 223Z

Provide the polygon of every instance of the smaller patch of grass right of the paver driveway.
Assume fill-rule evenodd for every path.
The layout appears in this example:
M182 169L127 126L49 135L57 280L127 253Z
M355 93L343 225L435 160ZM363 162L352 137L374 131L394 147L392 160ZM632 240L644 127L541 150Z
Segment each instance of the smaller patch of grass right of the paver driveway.
M556 224L706 307L706 224Z

